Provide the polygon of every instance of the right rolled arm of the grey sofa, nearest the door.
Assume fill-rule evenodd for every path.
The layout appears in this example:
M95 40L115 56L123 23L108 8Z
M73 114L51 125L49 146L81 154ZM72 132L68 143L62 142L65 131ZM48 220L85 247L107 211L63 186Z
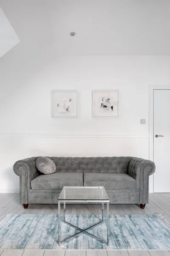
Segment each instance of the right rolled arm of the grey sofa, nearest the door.
M132 157L128 167L128 174L136 180L136 187L140 189L140 204L147 204L149 197L149 176L155 172L155 164L150 160Z

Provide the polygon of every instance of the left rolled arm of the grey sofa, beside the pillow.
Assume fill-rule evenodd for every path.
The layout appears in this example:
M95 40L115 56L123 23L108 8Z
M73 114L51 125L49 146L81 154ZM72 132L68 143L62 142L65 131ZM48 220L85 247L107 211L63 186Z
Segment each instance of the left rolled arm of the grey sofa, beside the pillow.
M28 204L28 190L31 189L31 180L39 176L35 165L37 158L26 158L14 163L14 173L20 176L20 202L23 204Z

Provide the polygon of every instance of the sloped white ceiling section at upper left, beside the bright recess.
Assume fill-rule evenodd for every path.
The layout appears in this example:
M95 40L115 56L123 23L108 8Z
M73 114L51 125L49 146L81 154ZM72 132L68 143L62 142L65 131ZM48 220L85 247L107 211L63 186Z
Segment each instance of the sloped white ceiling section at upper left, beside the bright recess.
M0 107L54 58L55 42L43 0L0 0L20 43L0 58ZM17 104L17 102L15 102Z

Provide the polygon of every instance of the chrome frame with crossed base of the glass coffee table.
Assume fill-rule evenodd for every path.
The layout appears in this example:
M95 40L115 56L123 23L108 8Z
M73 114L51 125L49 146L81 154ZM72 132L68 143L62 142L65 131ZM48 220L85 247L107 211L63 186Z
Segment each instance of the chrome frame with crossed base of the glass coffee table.
M80 202L80 203L88 203L88 202L102 203L102 221L100 221L99 223L97 223L97 224L95 224L95 225L93 225L91 227L86 228L85 230L82 230L81 228L79 228L77 226L74 226L73 224L71 224L71 223L69 223L69 222L67 222L65 220L65 202L69 202L69 203L75 203L75 202ZM67 239L64 239L63 241L61 241L61 238L60 238L60 236L61 236L61 210L60 210L60 204L61 203L63 203L63 206L64 206L64 220L63 220L63 223L65 223L65 224L67 224L67 225L69 225L71 227L74 227L75 229L80 231L79 233L77 233L77 234L75 234L73 236L70 236ZM96 237L96 236L92 235L91 233L87 232L87 230L90 230L91 228L96 227L97 225L104 223L104 203L107 204L107 241L99 239L98 237ZM59 229L59 233L58 233L58 244L59 244L59 246L62 243L72 239L73 237L78 236L81 233L85 233L86 235L91 236L92 238L94 238L94 239L96 239L96 240L98 240L98 241L100 241L100 242L102 242L102 243L104 243L104 244L109 246L109 199L108 200L97 200L97 199L96 200L84 200L84 199L82 199L82 200L81 199L80 200L74 200L74 199L72 199L72 200L71 199L65 200L65 199L58 199L58 229Z

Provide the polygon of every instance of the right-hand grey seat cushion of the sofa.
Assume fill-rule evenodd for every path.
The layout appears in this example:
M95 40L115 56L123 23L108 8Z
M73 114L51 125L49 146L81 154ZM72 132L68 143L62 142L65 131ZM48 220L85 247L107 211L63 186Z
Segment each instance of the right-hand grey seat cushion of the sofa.
M128 174L85 173L84 186L104 186L105 189L136 189L136 180Z

